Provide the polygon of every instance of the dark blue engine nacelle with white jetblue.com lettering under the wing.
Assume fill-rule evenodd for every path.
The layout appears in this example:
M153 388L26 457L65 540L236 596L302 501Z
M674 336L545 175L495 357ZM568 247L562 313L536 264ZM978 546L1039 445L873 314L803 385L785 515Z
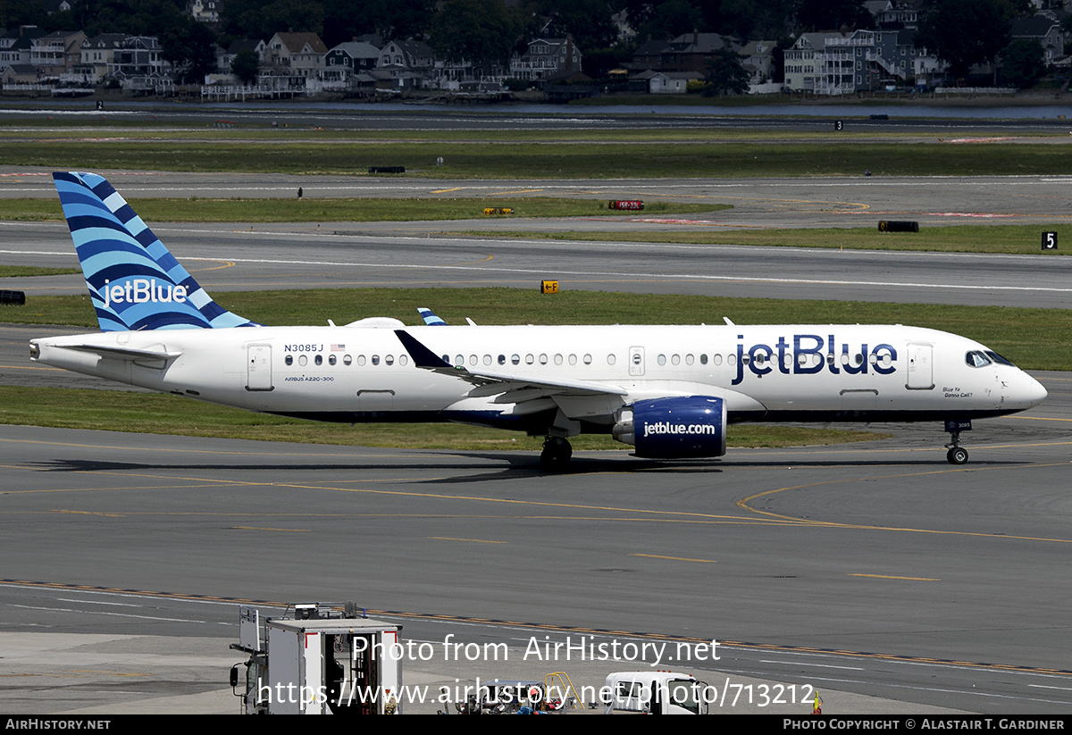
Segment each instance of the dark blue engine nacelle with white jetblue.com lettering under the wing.
M622 409L611 433L636 447L637 456L721 456L726 404L711 395L637 401Z

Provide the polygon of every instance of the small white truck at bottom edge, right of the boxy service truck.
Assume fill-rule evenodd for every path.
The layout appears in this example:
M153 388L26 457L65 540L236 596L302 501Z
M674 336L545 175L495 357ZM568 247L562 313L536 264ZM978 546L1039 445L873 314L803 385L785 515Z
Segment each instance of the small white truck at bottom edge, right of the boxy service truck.
M607 675L604 715L614 710L649 715L706 715L706 687L691 674L623 671Z

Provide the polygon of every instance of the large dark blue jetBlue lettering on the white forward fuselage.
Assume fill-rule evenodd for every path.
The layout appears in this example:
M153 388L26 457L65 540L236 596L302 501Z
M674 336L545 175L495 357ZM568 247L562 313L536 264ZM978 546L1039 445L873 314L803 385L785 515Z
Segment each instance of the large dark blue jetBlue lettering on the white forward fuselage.
M738 334L736 375L732 385L744 380L745 368L753 375L766 375L777 370L783 375L815 375L823 370L833 375L866 374L868 365L879 375L890 375L897 370L897 349L885 343L868 349L867 343L855 345L843 342L838 350L834 334L793 334L792 343L778 336L773 345L763 343L745 347L744 334Z

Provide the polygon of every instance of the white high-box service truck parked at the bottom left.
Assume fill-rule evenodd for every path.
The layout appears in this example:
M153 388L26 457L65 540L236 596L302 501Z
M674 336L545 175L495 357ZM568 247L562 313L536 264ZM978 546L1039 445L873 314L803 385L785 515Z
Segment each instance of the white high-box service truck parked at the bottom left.
M289 613L292 609L287 609ZM230 686L249 715L400 715L401 626L358 617L318 603L293 605L293 615L266 618L239 608L238 645L250 655L245 682ZM262 635L262 628L264 634Z

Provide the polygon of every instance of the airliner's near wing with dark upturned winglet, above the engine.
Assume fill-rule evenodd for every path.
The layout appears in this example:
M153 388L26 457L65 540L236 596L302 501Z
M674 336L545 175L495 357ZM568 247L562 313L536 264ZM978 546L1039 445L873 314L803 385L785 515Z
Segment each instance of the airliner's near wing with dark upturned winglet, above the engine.
M470 392L471 398L503 396L500 403L521 403L548 395L626 395L628 391L606 382L591 380L562 380L548 377L532 377L522 373L485 371L470 369L463 365L452 365L426 347L419 340L404 329L396 329L394 334L405 347L414 364L423 370L430 370L441 375L452 375L471 382L476 388ZM509 398L507 398L509 396Z

